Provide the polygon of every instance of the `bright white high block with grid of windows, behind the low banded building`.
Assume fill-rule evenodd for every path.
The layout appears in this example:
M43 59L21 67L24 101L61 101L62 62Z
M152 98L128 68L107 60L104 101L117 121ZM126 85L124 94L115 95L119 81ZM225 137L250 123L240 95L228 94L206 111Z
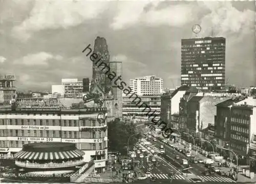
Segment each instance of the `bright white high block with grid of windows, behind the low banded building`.
M130 79L130 87L138 96L159 95L163 93L163 79L156 76Z

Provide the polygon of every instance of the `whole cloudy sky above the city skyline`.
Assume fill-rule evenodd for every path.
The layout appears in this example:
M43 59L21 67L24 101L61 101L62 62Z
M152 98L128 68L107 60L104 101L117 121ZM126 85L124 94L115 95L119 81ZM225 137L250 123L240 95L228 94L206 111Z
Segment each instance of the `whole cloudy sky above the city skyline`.
M180 85L181 39L226 37L226 81L256 85L254 2L0 1L0 74L19 90L51 89L61 78L92 77L82 50L105 37L123 62L123 81L157 75Z

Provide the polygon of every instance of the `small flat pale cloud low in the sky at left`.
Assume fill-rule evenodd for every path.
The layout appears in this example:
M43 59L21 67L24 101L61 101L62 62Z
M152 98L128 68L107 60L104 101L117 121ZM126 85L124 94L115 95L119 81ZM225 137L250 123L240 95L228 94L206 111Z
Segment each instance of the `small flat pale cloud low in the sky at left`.
M48 60L61 60L62 56L52 55L46 52L40 52L36 54L28 54L22 58L16 59L14 64L24 64L24 65L48 65Z

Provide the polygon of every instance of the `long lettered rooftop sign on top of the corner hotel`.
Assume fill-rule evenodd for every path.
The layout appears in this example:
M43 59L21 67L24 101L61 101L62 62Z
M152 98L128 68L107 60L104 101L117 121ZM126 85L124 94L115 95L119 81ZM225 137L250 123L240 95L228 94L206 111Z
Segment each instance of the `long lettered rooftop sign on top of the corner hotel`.
M21 108L53 108L59 107L59 102L56 98L23 98L16 100L17 107Z

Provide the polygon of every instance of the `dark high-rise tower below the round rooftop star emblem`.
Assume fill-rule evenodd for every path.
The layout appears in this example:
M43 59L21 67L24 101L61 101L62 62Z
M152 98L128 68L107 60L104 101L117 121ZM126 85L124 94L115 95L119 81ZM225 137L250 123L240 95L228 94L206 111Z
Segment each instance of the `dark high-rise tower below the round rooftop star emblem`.
M202 90L225 86L225 43L223 37L181 40L181 84Z

